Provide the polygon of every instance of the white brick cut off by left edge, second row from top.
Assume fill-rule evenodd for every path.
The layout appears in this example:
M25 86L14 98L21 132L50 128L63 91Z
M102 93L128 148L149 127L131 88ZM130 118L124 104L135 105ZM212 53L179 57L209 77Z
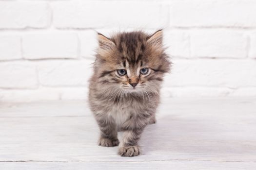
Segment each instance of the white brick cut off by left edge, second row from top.
M21 57L20 36L0 35L0 60L14 60Z

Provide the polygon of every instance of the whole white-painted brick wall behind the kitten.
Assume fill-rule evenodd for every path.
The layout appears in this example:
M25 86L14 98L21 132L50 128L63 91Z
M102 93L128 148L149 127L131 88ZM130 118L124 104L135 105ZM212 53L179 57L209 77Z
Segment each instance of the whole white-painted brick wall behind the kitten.
M256 97L256 0L0 0L0 102L87 98L96 32L164 28L163 97Z

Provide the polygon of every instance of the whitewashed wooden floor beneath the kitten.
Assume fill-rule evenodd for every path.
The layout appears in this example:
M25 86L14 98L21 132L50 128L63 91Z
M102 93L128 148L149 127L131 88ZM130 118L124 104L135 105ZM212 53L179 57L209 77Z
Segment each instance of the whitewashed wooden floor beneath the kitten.
M0 170L256 170L256 98L165 99L157 120L120 157L86 102L0 103Z

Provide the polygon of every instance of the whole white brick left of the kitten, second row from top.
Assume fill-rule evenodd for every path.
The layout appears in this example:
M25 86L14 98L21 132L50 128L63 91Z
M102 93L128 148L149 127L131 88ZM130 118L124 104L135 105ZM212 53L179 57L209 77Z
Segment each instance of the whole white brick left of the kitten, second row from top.
M77 58L78 37L73 33L26 34L22 49L26 59Z

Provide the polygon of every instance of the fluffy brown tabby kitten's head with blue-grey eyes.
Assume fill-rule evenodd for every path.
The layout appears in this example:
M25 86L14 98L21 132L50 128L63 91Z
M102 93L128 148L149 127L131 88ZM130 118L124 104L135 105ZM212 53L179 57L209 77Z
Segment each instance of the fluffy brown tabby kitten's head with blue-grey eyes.
M162 30L154 34L98 33L95 72L102 88L131 93L158 92L171 64L162 45Z

